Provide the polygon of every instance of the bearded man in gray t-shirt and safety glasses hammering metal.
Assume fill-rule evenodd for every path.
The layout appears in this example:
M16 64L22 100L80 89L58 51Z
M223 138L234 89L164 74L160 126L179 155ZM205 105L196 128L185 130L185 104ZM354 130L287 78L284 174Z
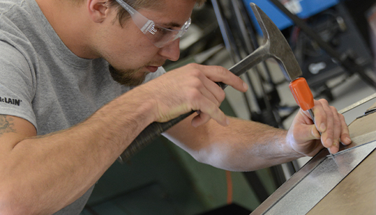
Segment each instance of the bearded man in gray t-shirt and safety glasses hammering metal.
M288 132L227 118L215 81L244 92L239 77L218 66L165 74L161 67L179 58L196 1L127 2L138 12L109 0L0 1L0 214L79 214L137 134L190 110L200 114L165 136L227 170L351 143L343 116L325 100L313 108L321 137L303 111ZM156 26L144 31L148 20Z

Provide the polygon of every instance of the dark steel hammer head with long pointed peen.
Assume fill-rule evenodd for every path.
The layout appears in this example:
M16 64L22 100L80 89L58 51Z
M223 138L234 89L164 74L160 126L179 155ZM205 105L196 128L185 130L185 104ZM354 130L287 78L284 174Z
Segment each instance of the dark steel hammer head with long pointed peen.
M301 77L301 68L285 36L280 32L276 24L274 24L255 3L250 3L250 7L264 34L264 45L260 48L267 50L262 52L276 59L287 81L294 81L298 77Z

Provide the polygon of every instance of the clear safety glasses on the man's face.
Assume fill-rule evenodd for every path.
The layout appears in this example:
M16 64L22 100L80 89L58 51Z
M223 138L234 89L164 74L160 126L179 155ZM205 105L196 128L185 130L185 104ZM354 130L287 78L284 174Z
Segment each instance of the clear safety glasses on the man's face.
M133 22L138 26L138 28L146 35L147 38L153 45L160 48L166 45L168 42L181 38L184 33L187 32L190 26L190 18L186 23L183 24L180 30L166 29L162 26L156 25L152 20L144 17L137 10L133 9L125 3L123 0L116 0L125 10L128 11L130 17L132 17Z

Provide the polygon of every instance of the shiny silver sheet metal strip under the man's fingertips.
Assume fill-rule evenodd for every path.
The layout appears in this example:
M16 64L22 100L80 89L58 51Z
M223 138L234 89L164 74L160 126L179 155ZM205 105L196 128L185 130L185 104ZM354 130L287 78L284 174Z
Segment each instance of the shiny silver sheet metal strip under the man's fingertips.
M335 160L325 157L283 198L261 214L307 214L375 148L376 141L373 141L335 154Z

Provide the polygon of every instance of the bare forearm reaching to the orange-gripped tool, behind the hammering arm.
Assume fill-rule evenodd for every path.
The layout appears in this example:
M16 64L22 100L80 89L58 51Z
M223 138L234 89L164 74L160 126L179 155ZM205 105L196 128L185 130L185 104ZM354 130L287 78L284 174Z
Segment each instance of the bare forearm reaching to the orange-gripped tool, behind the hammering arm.
M197 161L218 168L256 170L303 156L286 143L287 131L283 129L234 118L230 119L228 127L222 127L212 120L196 129L188 124L171 129L167 137ZM180 126L188 132L179 133Z

